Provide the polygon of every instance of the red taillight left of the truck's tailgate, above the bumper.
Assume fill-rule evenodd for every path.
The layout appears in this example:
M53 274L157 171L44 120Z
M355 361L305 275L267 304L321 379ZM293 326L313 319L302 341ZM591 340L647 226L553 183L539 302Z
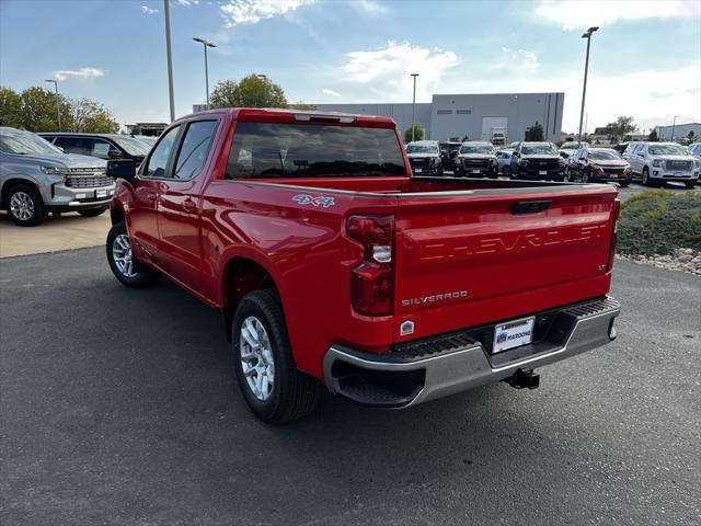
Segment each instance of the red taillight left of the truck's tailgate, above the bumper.
M368 316L391 315L394 217L350 216L346 231L364 249L350 277L353 308Z

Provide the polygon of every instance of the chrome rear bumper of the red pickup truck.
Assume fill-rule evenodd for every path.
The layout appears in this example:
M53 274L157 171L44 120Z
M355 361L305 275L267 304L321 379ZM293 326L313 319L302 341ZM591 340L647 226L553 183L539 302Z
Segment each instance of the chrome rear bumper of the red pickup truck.
M416 405L605 345L616 338L619 313L620 305L608 296L536 313L540 329L533 343L495 355L493 324L412 342L382 355L334 345L324 357L324 380L332 392L363 405Z

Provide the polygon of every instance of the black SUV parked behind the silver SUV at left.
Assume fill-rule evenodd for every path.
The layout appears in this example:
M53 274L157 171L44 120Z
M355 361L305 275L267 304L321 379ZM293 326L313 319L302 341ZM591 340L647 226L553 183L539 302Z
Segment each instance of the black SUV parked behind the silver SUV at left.
M149 146L129 135L42 133L38 134L66 153L97 157L100 159L131 160L137 165L149 153Z

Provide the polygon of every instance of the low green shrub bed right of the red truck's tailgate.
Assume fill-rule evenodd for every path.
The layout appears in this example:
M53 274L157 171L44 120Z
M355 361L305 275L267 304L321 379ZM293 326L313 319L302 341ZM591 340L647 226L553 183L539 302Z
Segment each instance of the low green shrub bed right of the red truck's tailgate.
M701 251L701 192L648 191L623 203L619 253L665 255L679 248Z

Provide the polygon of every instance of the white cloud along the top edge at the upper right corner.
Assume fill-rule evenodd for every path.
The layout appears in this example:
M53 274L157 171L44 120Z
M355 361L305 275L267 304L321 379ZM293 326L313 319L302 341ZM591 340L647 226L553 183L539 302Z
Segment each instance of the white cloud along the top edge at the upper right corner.
M558 24L565 31L605 26L619 21L698 16L699 2L682 0L540 0L536 20Z

